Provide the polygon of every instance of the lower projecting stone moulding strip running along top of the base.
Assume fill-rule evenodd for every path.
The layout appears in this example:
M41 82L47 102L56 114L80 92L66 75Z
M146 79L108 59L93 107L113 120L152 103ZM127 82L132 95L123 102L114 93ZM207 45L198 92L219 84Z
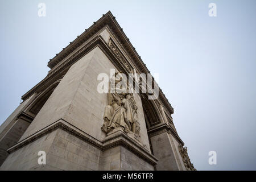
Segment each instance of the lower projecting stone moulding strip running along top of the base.
M155 158L154 155L150 154L150 152L144 149L143 146L135 142L133 139L127 137L124 133L118 133L117 135L114 135L113 137L110 137L107 140L100 141L97 140L96 138L93 138L89 134L84 133L84 131L78 129L77 127L71 125L71 123L64 121L64 119L59 119L58 121L52 123L44 129L27 137L26 139L21 140L13 147L10 147L7 150L7 152L11 154L16 150L19 150L20 148L26 146L27 144L30 144L35 140L43 137L44 135L49 134L52 131L55 131L56 129L62 129L64 131L67 131L69 134L72 134L75 137L92 144L94 147L99 148L101 151L105 151L108 150L109 148L113 148L116 146L123 146L127 148L127 150L133 151L134 154L138 155L139 157L146 160L148 163L152 165L155 165L158 162L158 159Z

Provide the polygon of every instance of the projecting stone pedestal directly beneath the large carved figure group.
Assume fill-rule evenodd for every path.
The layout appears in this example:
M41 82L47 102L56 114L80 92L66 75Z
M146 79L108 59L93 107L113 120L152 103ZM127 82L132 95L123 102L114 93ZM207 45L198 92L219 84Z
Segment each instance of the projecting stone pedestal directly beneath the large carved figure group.
M158 161L140 138L121 128L106 135L104 148L101 170L154 170Z

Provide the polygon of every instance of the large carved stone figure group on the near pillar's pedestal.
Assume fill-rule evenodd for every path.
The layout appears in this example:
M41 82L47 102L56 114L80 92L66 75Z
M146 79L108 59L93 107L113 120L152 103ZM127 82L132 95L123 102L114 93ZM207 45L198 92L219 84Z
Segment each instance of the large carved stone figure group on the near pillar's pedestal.
M117 73L115 73L115 76ZM108 93L109 105L105 107L104 111L104 123L101 130L105 133L109 133L115 128L121 127L123 131L128 133L133 132L137 137L139 137L139 131L141 127L139 126L137 118L137 105L133 97L133 93L122 92L125 90L118 90L116 85L118 82L122 81L122 78L111 78L110 90L115 89L115 92ZM112 88L111 85L113 85ZM126 89L126 88L121 88ZM120 92L117 92L120 91Z

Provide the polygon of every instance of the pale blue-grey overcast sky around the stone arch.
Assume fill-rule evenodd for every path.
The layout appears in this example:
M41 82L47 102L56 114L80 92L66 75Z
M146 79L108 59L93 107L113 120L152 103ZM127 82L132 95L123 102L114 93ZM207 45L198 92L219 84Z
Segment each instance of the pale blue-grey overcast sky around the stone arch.
M46 16L38 16L45 3ZM210 17L209 3L217 16ZM109 10L174 107L198 170L256 170L256 1L0 1L0 124ZM209 151L217 164L210 165Z

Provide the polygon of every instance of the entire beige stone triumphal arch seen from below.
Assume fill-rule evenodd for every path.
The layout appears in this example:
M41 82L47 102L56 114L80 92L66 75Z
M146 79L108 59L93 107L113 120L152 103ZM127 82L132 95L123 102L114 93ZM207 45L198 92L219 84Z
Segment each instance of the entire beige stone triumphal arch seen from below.
M162 90L156 100L97 92L97 76L110 69L150 73L110 11L48 67L0 126L1 170L194 169Z

